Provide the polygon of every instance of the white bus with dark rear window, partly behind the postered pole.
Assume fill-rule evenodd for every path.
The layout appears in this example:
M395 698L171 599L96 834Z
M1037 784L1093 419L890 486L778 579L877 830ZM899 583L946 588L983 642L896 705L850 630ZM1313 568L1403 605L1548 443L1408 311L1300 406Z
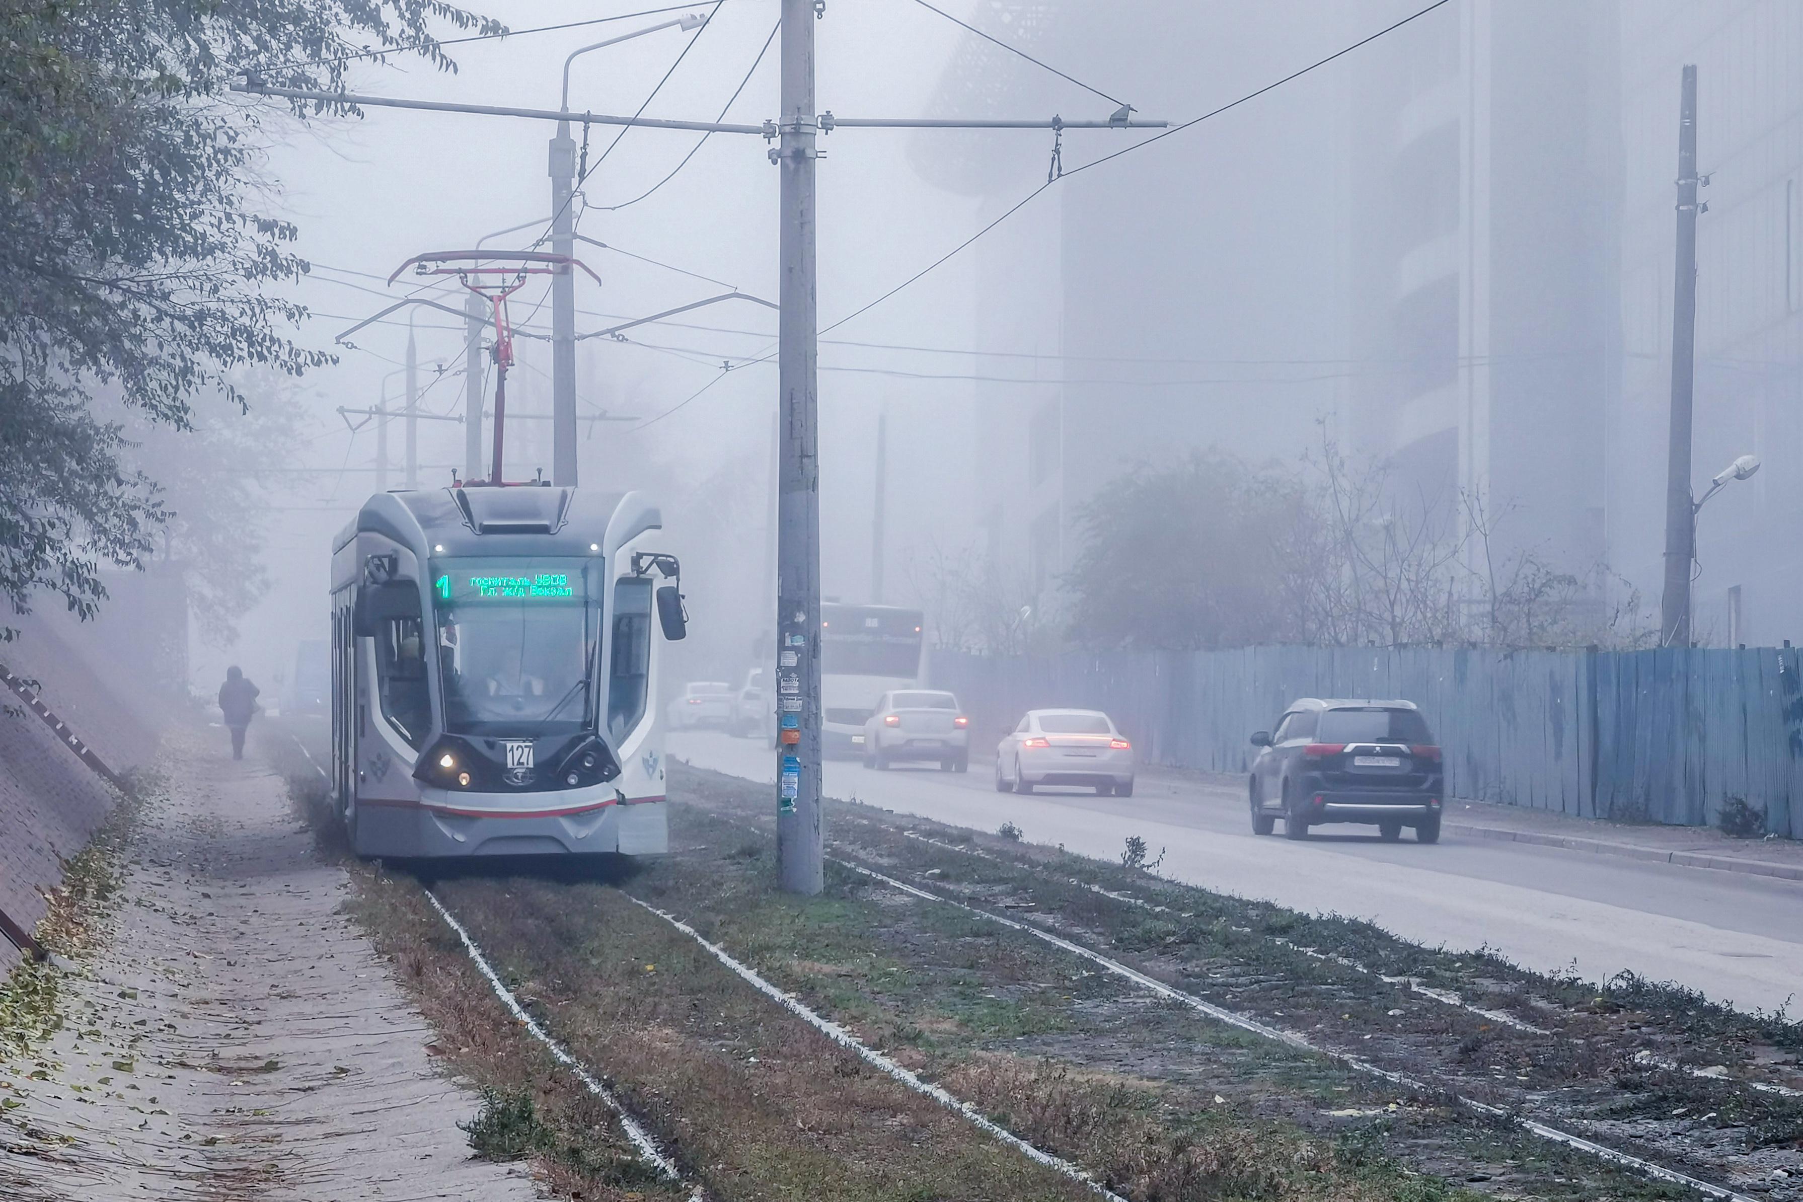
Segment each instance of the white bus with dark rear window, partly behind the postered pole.
M892 688L921 678L921 613L896 606L820 604L820 744L862 755L864 723Z

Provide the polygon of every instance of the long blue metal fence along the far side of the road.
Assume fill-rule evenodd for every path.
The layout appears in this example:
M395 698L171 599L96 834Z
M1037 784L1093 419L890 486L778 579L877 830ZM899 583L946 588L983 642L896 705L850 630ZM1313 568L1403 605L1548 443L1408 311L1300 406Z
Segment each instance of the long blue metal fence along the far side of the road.
M1156 764L1237 773L1295 697L1406 697L1453 797L1587 818L1713 824L1738 797L1803 836L1803 660L1751 651L1246 647L993 660L934 654L979 730L1039 706L1107 710Z

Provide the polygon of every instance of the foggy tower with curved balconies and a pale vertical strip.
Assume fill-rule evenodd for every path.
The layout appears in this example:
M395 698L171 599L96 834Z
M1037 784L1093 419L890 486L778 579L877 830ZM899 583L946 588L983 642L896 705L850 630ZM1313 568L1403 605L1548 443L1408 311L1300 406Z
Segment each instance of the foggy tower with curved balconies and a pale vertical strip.
M1605 557L1614 11L1466 4L1345 63L1347 445L1475 497L1507 550Z

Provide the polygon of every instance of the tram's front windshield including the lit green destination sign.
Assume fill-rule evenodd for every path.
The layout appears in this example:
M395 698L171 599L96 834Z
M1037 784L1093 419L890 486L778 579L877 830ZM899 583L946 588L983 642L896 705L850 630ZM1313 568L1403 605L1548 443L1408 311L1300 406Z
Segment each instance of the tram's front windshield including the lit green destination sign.
M572 733L593 712L599 560L435 559L445 730Z

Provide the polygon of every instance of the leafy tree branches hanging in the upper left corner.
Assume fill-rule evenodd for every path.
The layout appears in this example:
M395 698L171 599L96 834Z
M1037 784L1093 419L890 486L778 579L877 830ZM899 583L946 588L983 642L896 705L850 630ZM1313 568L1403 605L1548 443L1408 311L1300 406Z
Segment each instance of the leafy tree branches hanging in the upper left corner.
M173 431L247 396L234 369L330 355L265 292L307 272L296 229L254 211L261 114L225 85L337 87L346 56L496 31L442 0L9 0L0 5L0 595L87 616L103 564L135 568L171 512L96 400ZM301 106L297 106L297 112Z

